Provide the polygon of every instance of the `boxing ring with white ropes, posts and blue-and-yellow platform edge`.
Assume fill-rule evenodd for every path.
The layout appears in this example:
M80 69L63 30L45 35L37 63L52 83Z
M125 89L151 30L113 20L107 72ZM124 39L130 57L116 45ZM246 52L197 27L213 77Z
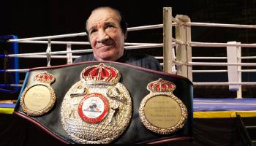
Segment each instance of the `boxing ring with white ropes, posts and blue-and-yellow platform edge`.
M228 86L231 91L236 91L236 97L227 99L209 99L203 97L194 97L193 109L194 118L235 118L236 114L244 117L256 117L256 98L243 98L242 86L255 86L256 81L243 82L242 74L244 72L256 72L253 67L256 63L244 63L243 60L256 59L256 56L241 56L241 52L244 47L256 47L256 44L244 44L242 42L192 42L191 29L196 27L223 27L223 28L246 28L255 29L255 25L239 25L239 24L224 24L224 23L193 23L190 22L190 18L185 15L172 16L170 8L163 9L163 24L151 25L151 26L138 26L128 28L128 31L142 31L148 29L163 29L163 42L162 43L135 43L126 42L126 50L137 50L146 48L163 48L162 56L154 56L159 59L159 62L163 66L164 72L171 74L178 74L183 77L187 77L193 82L195 87L200 86ZM173 33L173 28L175 33ZM91 53L92 49L89 46L89 42L75 42L75 41L60 41L59 39L65 39L70 37L86 37L85 32L76 34L63 34L47 37L31 37L24 39L9 39L8 43L18 43L24 45L41 44L46 45L45 52L42 53L15 53L4 54L2 58L41 58L46 59L45 66L51 66L55 60L62 59L67 64L72 64L75 58L78 58L81 53ZM58 39L58 41L55 41ZM53 46L62 46L61 51L56 50ZM86 46L86 49L73 50L75 45ZM63 47L64 46L64 47ZM195 47L214 47L219 49L225 48L227 54L224 56L192 56L192 50ZM87 49L88 48L88 49ZM75 55L74 55L75 54ZM78 54L78 55L77 55ZM207 60L207 61L206 61ZM203 62L206 61L206 62ZM223 62L220 62L223 61ZM226 66L227 69L193 69L193 66ZM242 66L250 67L252 69L242 69ZM34 66L39 67L39 66ZM2 73L18 72L24 74L29 72L29 69L4 69ZM228 77L228 82L195 82L193 80L194 74L207 74L207 73L225 73ZM23 79L21 79L23 80ZM6 85L9 88L21 88L22 84L5 84L1 83L1 87ZM195 88L197 90L198 88ZM200 89L200 88L199 88ZM209 89L210 90L210 89ZM221 97L221 95L219 95ZM0 108L2 113L12 113L15 103L2 103Z

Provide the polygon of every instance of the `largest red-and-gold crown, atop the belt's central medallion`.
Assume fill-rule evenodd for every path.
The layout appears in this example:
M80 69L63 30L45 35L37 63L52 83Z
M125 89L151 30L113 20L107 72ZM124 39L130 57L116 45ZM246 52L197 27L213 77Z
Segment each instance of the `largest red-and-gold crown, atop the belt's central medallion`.
M104 81L117 83L120 80L120 73L111 66L103 63L89 66L81 72L81 79L85 81Z

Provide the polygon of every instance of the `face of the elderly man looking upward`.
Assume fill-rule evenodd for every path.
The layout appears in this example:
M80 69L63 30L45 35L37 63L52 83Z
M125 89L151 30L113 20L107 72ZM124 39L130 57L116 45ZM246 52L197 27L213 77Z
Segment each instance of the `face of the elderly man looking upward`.
M97 61L116 61L123 55L125 35L119 22L118 14L112 9L91 13L86 29Z

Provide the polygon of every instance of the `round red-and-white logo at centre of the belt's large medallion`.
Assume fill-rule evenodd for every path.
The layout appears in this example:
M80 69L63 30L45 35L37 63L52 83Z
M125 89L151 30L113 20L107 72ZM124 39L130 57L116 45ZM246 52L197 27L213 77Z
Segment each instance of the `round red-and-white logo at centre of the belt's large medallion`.
M100 93L90 93L80 101L78 114L87 123L99 123L108 114L108 99Z

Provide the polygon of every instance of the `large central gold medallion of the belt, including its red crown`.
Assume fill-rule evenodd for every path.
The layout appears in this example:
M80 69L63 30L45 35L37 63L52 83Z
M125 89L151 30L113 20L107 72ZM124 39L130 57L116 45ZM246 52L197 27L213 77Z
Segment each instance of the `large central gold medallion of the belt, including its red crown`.
M132 99L118 70L105 64L86 67L61 106L61 122L78 143L109 143L127 128Z

